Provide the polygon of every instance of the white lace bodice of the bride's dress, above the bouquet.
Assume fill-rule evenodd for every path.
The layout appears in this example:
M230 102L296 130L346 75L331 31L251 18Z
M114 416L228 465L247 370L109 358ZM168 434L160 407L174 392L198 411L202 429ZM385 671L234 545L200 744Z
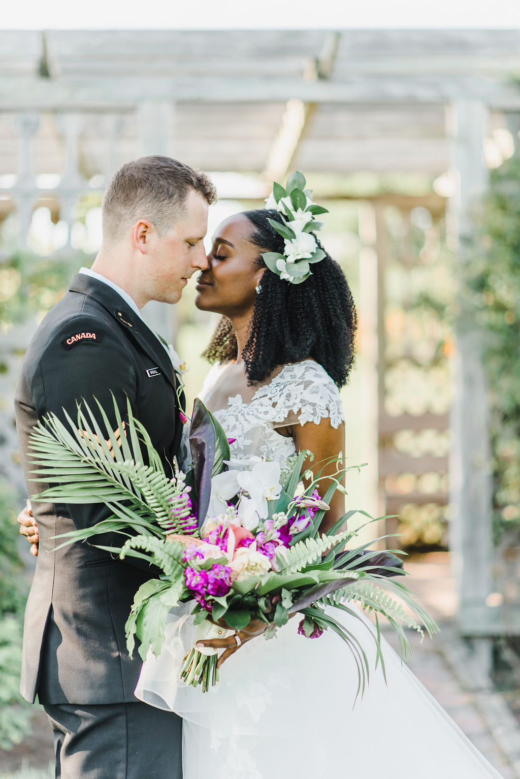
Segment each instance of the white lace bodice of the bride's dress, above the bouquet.
M199 393L204 402L226 365L214 365ZM333 428L343 421L339 391L329 374L314 360L285 365L269 384L256 390L248 403L241 395L230 397L227 407L213 414L220 421L233 456L256 454L270 460L286 461L295 453L292 438L276 432L276 428L299 422L318 422L330 418Z

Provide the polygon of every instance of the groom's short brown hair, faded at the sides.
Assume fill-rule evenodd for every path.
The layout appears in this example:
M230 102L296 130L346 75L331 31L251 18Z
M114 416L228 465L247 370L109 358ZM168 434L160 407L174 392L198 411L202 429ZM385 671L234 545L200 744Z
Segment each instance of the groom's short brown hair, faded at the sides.
M206 173L171 157L154 154L121 165L104 193L104 240L120 240L138 219L149 220L164 233L183 216L191 190L208 203L216 201L215 185Z

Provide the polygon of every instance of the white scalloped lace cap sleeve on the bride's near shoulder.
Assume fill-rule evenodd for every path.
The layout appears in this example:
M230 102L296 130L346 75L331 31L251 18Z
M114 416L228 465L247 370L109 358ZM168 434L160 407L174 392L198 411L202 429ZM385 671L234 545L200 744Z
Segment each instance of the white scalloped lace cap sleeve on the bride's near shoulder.
M267 386L261 387L255 395L269 413L274 427L277 424L300 425L330 418L333 428L343 421L343 406L339 390L329 374L314 360L304 360L286 365ZM295 420L296 418L296 420Z

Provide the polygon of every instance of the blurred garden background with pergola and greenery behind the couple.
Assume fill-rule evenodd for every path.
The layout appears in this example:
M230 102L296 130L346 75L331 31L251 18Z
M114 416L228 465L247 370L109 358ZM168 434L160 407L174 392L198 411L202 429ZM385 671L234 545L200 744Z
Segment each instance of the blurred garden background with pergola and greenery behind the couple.
M441 622L425 683L449 710L444 662L459 720L469 695L494 706L487 756L520 776L519 79L517 30L0 30L0 774L47 776L51 759L17 692L34 561L15 523L16 375L93 262L111 174L160 153L216 183L209 239L295 169L329 209L321 239L360 319L343 403L346 454L366 465L347 508L392 515L364 533L399 534ZM144 309L188 363L188 404L215 325L194 281Z

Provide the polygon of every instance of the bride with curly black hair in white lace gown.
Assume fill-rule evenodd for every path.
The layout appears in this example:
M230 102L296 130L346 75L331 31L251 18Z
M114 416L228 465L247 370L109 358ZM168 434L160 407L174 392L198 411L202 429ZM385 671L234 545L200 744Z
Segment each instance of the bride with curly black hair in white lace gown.
M283 277L283 263L266 267L265 252L286 256L292 248L269 220L281 222L279 213L246 211L217 228L195 300L222 315L200 397L235 439L232 457L284 464L310 449L318 462L345 448L338 388L353 365L356 311L343 272L324 251L301 283ZM343 513L336 491L320 530ZM354 707L357 671L345 645L330 632L307 640L297 620L275 640L264 640L265 625L253 621L238 638L202 642L225 650L220 684L209 693L184 686L178 669L194 631L188 613L176 610L135 694L184 718L184 779L499 777L383 640L385 684L363 612L343 624L371 660L370 684Z

